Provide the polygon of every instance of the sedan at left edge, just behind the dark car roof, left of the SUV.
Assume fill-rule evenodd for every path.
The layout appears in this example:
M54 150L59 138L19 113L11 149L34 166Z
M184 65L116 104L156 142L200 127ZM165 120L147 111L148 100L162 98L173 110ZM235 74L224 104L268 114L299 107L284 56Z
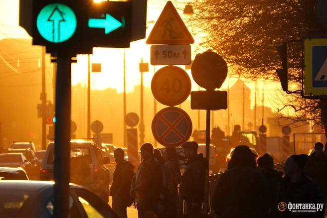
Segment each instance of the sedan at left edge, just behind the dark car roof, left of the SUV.
M27 175L31 174L32 164L22 153L0 154L0 167L22 168Z

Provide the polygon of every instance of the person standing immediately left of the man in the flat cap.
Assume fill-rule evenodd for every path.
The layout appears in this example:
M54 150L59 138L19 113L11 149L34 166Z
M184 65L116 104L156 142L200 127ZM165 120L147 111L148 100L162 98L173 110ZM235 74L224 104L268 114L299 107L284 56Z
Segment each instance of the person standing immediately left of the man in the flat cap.
M169 180L167 188L169 194L167 196L167 202L165 205L166 213L169 215L169 218L178 217L178 184L180 183L181 173L178 154L173 147L166 147L163 150L163 159L165 160L164 164L170 170Z

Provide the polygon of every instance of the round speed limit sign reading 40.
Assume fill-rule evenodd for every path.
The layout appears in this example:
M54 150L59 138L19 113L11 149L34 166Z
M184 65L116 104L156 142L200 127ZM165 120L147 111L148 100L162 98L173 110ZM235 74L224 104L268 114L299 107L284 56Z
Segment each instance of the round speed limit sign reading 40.
M151 82L151 91L161 104L176 106L189 96L191 80L180 67L166 66L155 73Z

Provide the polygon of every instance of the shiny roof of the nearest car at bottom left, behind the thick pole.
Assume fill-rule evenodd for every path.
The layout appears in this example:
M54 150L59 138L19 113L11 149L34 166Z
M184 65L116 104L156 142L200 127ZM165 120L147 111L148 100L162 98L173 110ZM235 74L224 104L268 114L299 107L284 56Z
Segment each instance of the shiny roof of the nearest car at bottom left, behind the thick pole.
M0 180L0 189L1 187L6 190L24 190L36 192L42 189L53 187L53 181L32 181L32 180ZM82 189L82 187L72 184L69 184L70 187ZM2 189L3 189L2 188Z

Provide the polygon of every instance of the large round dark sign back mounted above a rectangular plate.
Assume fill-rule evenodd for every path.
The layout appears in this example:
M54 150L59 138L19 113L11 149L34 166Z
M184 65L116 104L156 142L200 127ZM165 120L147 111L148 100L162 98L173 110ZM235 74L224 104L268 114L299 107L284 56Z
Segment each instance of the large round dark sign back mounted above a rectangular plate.
M226 80L228 67L223 57L208 50L195 56L191 71L197 85L214 90L219 89Z

